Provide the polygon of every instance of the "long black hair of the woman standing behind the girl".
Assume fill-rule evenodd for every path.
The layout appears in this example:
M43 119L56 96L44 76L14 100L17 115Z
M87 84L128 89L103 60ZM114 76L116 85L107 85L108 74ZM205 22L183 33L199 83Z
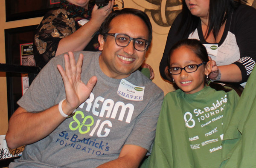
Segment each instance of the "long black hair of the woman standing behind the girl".
M247 3L245 0L209 0L209 23L208 23L208 31L205 34L205 39L209 36L212 31L214 38L216 39L218 36L218 32L220 31L221 26L227 20L229 14L232 13L234 9L236 9L241 2ZM199 17L196 17L191 14L189 9L186 6L185 0L182 0L182 19L178 29L180 29L186 25L185 34L188 33L189 28L192 27L192 30L195 30L198 26L200 20Z

